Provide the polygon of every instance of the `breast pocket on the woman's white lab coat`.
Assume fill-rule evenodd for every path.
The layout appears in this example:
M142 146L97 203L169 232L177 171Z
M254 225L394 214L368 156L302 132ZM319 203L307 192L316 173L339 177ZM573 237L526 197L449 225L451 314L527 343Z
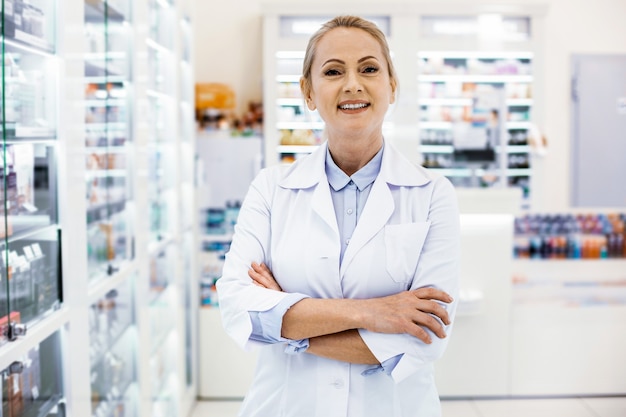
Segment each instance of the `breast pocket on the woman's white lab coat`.
M387 272L395 282L413 279L429 228L430 222L385 226Z

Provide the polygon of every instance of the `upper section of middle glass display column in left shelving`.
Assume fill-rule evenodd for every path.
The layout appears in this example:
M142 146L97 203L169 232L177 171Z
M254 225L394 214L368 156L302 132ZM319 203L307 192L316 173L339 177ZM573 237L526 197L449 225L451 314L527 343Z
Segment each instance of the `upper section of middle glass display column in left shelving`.
M132 259L133 144L128 0L85 1L85 184L88 274Z

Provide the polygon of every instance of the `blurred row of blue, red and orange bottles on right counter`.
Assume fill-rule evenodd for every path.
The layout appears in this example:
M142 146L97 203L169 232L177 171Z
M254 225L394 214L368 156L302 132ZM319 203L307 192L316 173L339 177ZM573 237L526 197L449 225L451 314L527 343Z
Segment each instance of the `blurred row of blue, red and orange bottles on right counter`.
M626 258L626 214L534 214L515 220L515 258Z

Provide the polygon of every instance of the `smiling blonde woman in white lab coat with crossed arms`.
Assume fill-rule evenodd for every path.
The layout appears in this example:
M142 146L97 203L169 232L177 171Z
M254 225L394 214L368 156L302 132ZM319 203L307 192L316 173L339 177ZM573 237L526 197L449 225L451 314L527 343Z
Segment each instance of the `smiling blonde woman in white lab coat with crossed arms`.
M438 416L432 363L458 292L454 190L383 138L397 80L374 24L324 24L300 86L327 140L255 178L217 283L226 331L263 346L240 416Z

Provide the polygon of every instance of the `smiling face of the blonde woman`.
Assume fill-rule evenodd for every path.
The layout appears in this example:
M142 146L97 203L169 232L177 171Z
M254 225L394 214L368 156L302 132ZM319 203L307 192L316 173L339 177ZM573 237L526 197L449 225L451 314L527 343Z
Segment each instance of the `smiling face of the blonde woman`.
M365 30L338 27L319 40L302 89L309 109L326 122L329 142L382 140L383 119L395 100L388 68L381 45Z

